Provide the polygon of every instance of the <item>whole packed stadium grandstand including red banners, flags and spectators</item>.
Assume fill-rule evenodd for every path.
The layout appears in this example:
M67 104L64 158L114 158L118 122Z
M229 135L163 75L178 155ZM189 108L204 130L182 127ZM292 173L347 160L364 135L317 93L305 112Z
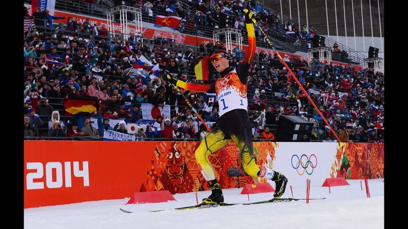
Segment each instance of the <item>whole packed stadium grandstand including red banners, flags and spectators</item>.
M213 35L223 28L242 34L242 46L227 50L237 66L248 45L249 8L336 133L351 125L346 141L384 142L383 69L367 67L367 56L330 38L323 47L331 59L310 54L316 37L324 37L313 25L298 28L256 1L133 0L125 5L140 14L123 11L129 29L122 32L123 15L107 13L116 2L56 0L50 11L24 1L25 140L111 140L107 132L133 141L201 140L207 130L187 102L211 126L220 118L217 96L179 91L163 80L164 70L203 84L195 67L213 50L227 50L226 36ZM180 23L158 27L157 16ZM247 81L254 141L275 141L282 115L312 123L310 141L337 141L258 27L255 34Z

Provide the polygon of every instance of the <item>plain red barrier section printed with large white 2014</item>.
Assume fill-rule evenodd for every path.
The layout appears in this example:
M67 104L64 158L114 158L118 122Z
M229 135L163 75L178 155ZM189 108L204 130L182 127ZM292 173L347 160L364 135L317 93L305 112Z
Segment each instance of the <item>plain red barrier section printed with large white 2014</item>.
M130 197L156 142L25 141L24 207Z

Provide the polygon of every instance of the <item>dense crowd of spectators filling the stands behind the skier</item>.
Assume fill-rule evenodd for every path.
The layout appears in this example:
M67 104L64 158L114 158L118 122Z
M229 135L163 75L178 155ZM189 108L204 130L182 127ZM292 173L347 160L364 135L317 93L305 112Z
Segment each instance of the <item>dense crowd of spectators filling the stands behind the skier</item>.
M137 2L143 3L141 7L152 8L146 1ZM163 3L174 3L167 7L171 9L173 5L180 9L177 1L151 2L153 8ZM240 4L246 1L241 1L238 8L236 5L231 6L232 3L234 1L210 1L200 4L200 9L208 12L203 8L206 4L213 4L211 9L222 4L223 7L237 9L238 12ZM252 3L254 1L250 2ZM173 9L177 11L174 7ZM161 36L142 39L143 36L138 33L124 40L120 34L107 37L107 32L102 27L87 29L87 20L79 24L78 31L75 29L77 27L70 27L72 20L74 19L67 18L68 28L64 32L48 28L46 30L41 26L37 26L36 31L33 31L35 27L31 27L25 32L25 136L98 137L103 136L106 130L127 133L126 124L143 119L141 105L151 103L151 114L156 122L145 129L138 129L132 135L140 139L161 137L200 140L207 130L203 124L196 130L194 123L198 121L198 117L187 106L181 93L205 121L216 122L219 119L217 98L210 100L213 97L204 93L179 92L169 86L161 74L156 75L148 69L133 69L129 72L129 68L144 56L153 65L159 64L160 69L167 69L180 79L200 84L202 82L194 77L194 67L212 50L225 49L221 44L203 43L196 50L196 47L186 48ZM92 36L92 29L99 35ZM244 51L236 50L230 59L230 65L236 66L243 54ZM315 123L314 140L335 140L288 70L267 64L278 59L277 56L260 52L257 53L257 58L265 64L253 64L247 81L248 115L254 125L254 138L274 139L280 115L299 115ZM356 70L351 65L321 63L318 59L307 63L293 56L285 56L284 60L302 65L292 71L333 130L339 133L342 129L347 129L347 139L342 140L383 141L383 73L374 73L369 68ZM216 75L213 80L217 77ZM100 111L92 115L66 115L62 103L64 88L73 90L79 96L98 97L102 103ZM162 115L164 104L170 105L169 117ZM98 128L92 127L91 116L98 118ZM121 122L112 127L109 124L112 119L121 119ZM352 125L351 132L349 124Z

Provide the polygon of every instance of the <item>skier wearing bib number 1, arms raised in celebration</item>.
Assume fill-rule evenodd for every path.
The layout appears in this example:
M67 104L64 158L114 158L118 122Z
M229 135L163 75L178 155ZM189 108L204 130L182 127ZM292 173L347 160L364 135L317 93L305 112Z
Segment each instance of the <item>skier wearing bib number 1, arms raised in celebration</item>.
M244 58L234 69L229 67L229 56L224 50L215 50L209 57L212 66L221 74L216 82L211 84L188 84L178 80L177 77L167 75L164 77L171 84L197 92L217 93L220 105L220 119L205 138L201 141L195 156L201 166L201 173L207 180L212 191L204 203L224 202L221 186L217 183L214 170L208 161L208 156L231 140L240 149L240 157L246 173L250 176L259 176L271 179L276 183L275 198L280 198L285 192L287 179L279 172L255 163L254 147L252 145L252 126L248 118L248 100L246 95L247 73L255 53L254 25L250 18L254 17L252 11L244 10L245 23L248 31L248 49Z

